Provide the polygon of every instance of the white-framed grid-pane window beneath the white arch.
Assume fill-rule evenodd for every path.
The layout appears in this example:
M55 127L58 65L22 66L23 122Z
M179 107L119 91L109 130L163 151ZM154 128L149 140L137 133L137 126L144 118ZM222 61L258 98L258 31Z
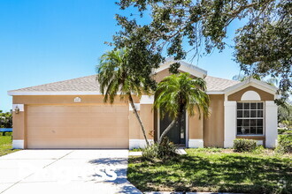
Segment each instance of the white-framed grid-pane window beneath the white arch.
M264 102L237 102L237 135L264 134Z

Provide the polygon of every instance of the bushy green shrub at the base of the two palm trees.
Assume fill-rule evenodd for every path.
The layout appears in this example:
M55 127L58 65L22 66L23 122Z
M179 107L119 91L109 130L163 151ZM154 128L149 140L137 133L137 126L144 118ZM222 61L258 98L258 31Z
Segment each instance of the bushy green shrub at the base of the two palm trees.
M142 152L142 157L145 160L167 160L175 158L177 146L173 144L168 138L164 138L161 144L154 143L146 147Z

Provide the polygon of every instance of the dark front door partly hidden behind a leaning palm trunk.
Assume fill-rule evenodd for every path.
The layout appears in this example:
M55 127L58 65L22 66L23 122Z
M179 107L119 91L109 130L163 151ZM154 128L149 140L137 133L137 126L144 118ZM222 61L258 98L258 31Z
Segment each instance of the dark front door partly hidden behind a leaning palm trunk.
M161 118L161 116L160 116ZM160 135L165 131L172 119L169 116L165 116L160 119ZM184 113L181 118L178 118L173 128L168 131L167 138L169 138L174 144L186 144L186 114Z

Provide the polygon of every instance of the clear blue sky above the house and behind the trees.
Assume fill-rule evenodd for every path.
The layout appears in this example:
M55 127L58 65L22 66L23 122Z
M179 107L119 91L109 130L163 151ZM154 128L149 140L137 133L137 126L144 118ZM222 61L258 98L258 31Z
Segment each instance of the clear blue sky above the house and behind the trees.
M0 0L0 110L12 108L8 90L95 74L104 41L119 30L115 0ZM127 12L125 12L127 14ZM229 28L228 42L238 22ZM211 76L240 72L233 49L197 65Z

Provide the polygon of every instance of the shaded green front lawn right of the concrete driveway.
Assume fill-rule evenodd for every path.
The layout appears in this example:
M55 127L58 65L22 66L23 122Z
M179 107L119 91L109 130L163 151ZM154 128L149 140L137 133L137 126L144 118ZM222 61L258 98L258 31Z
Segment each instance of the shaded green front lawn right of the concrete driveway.
M129 158L127 178L139 190L292 193L292 157L186 149L177 160ZM283 189L284 186L284 189Z

